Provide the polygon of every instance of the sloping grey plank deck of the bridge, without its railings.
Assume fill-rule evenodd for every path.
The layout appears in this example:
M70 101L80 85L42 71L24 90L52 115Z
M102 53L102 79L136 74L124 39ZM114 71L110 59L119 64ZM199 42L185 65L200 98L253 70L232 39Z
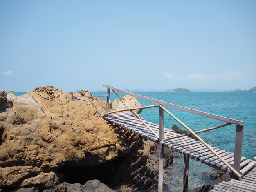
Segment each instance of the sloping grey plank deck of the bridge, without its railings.
M150 130L138 120L131 113L119 113L119 114L109 114L105 117L105 119L111 123L119 125L120 127L124 127L126 129L131 130L145 138L148 138L152 141L158 143L158 138L150 132ZM159 134L159 126L150 121L146 121L141 118L147 125L149 125L157 134ZM178 136L179 133L174 132L172 129L168 129L164 127L164 138L169 138L172 136ZM213 167L217 170L225 172L227 174L231 173L231 170L224 164L217 156L215 156L205 145L203 145L200 141L197 141L188 136L183 136L180 138L175 138L172 140L162 141L162 143L169 147L171 150L175 152L179 152L184 156L187 156L191 159L195 159L201 163L204 163L210 167ZM218 147L211 146L214 151L218 152L218 154L227 161L230 165L234 163L234 153L228 152ZM251 159L247 159L246 157L241 157L240 163L240 174L244 175L250 170L256 161ZM237 181L237 180L235 180ZM256 185L256 182L255 182ZM255 186L256 187L256 186Z

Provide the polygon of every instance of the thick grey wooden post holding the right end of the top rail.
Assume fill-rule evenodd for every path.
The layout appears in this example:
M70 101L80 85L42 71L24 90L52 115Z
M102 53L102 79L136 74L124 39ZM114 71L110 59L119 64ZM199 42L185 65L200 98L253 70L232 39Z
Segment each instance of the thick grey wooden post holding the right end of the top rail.
M243 142L243 126L236 125L236 144L235 144L235 155L234 155L234 169L238 173L240 173L242 142ZM236 177L236 179L238 179L238 178Z

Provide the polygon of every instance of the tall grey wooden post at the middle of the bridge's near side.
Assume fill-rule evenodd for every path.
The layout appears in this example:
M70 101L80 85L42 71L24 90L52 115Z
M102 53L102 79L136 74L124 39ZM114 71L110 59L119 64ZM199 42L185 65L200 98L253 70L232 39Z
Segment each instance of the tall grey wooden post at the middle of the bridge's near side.
M164 186L164 110L159 107L159 168L158 168L158 192L163 191Z

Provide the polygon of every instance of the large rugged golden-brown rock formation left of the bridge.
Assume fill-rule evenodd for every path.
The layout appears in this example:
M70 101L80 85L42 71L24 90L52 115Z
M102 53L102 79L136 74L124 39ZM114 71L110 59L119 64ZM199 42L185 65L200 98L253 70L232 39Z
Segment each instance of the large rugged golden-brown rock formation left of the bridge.
M129 107L141 106L136 98L128 100ZM111 103L109 108L114 110ZM74 99L52 86L16 98L0 91L0 191L54 191L54 186L66 186L60 185L62 167L93 167L119 157L124 161L112 171L116 177L148 188L157 178L147 156L156 144L148 141L144 148L141 137L108 123L101 117L104 112L105 101Z

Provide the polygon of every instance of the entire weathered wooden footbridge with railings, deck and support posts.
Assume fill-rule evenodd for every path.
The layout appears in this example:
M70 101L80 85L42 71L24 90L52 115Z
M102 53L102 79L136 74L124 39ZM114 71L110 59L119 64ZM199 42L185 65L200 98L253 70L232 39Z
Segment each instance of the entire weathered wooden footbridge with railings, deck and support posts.
M106 106L106 113L104 114L104 118L111 123L114 123L116 125L119 125L120 127L129 129L132 132L135 132L159 144L159 183L158 183L159 192L163 191L164 145L166 147L169 147L171 150L179 152L180 154L184 155L184 177L183 177L184 192L187 192L188 190L189 158L199 161L201 163L204 163L210 167L213 167L227 174L230 174L231 176L233 176L234 179L237 179L237 180L242 179L243 176L247 174L247 172L249 172L249 170L251 170L255 166L256 161L247 159L246 157L241 157L242 140L243 140L243 124L244 124L243 121L226 118L226 117L222 117L214 114L209 114L206 112L201 112L195 109L190 109L190 108L182 107L179 105L174 105L161 100L156 100L146 96L141 96L139 94L127 92L122 89L117 89L115 87L111 87L108 85L102 85L102 86L107 88L107 95L106 95L107 106ZM108 112L110 89L112 89L112 91L117 95L117 97L119 97L119 99L124 103L124 105L127 107L126 109ZM148 100L150 102L156 103L156 105L130 108L128 107L128 105L126 105L124 100L122 100L122 98L117 94L117 92L135 96L136 98ZM88 96L88 97L91 97L91 96ZM177 117L175 117L164 106L172 107L172 108L180 109L182 111L186 111L189 113L198 114L200 116L205 116L208 118L224 121L225 124L193 132L188 126L182 123L182 121L180 121ZM137 113L133 112L133 110L146 109L151 107L159 108L159 125L152 123L150 121L146 121ZM130 112L128 113L128 111L130 111L131 113ZM179 134L174 132L172 129L164 127L164 111L167 114L169 114L172 118L174 118L178 123L180 123L183 127L185 127L189 131L189 133ZM119 113L119 112L124 112L124 113ZM236 125L236 141L235 141L234 153L219 149L218 147L208 145L197 135L198 133L201 133L201 132L218 129L231 124ZM189 135L195 136L197 140L190 138Z

